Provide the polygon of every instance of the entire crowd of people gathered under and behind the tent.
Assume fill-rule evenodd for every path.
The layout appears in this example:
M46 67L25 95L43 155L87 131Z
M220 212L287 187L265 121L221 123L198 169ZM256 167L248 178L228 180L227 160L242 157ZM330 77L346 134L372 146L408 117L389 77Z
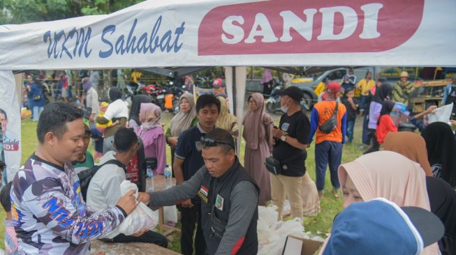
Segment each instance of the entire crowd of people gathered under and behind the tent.
M283 114L278 125L265 113L261 93L249 95L249 111L239 123L228 110L223 81L216 79L212 93L198 98L184 93L179 113L165 129L160 107L147 95L135 95L128 107L122 90L112 86L109 102L99 102L97 84L86 77L82 88L87 96L81 105L54 102L43 109L44 104L35 102L38 147L0 193L3 208L10 212L6 249L12 254L89 254L94 239L167 247L166 238L150 229L133 235L116 230L141 201L151 207L178 205L183 254L256 254L258 205L271 201L277 206L278 220L287 216L287 199L293 218L318 215L324 210L320 200L329 166L332 196L339 199L342 194L344 211L334 219L321 254L393 254L390 251L398 246L395 254L455 254L456 138L447 123L419 121L435 107L411 117L421 135L397 132L390 113L397 97L409 93L410 84L403 78L391 86L381 78L374 82L368 72L355 85L352 72L342 84L328 82L310 118L300 107L302 91L288 86L279 91ZM34 77L27 79L28 93L40 94ZM344 144L353 141L358 115L364 118L362 141L370 147L365 155L342 164ZM235 138L240 132L245 140L244 164L237 157ZM88 151L90 139L95 155ZM307 149L313 141L315 182L307 171ZM133 158L142 153L154 159L154 174L163 174L167 145L176 185L138 192L137 199L134 192L122 196L120 183L128 179L126 167ZM78 173L94 168L83 198ZM429 230L417 231L418 223L402 207L433 212L443 222L441 235L429 238L425 233ZM385 229L378 229L382 238L369 241L371 245L349 245L367 238L362 233L373 224L369 216L381 212L397 219L397 224L385 228L397 233L391 236L398 245L393 247L390 239L383 238ZM351 217L357 214L359 218ZM366 222L347 229L358 219ZM413 240L406 239L409 235Z

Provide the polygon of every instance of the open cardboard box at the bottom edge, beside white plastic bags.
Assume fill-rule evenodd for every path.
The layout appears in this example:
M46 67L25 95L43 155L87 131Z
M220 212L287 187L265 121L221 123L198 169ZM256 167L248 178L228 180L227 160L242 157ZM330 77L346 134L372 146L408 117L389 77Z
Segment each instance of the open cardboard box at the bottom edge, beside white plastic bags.
M288 235L282 255L313 255L321 245L323 242Z

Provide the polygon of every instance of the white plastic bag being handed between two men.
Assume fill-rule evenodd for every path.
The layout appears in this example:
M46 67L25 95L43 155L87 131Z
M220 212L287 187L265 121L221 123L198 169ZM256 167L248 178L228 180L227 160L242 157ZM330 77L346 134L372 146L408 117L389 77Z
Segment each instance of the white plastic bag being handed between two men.
M138 186L128 180L124 180L120 184L120 193L122 196L124 196L124 194L130 190L136 191L135 197L138 199ZM119 228L117 230L124 235L133 235L142 229L154 228L158 222L158 215L144 203L139 202L135 210L133 210L133 212L131 212L131 214L126 217L124 222L119 225Z

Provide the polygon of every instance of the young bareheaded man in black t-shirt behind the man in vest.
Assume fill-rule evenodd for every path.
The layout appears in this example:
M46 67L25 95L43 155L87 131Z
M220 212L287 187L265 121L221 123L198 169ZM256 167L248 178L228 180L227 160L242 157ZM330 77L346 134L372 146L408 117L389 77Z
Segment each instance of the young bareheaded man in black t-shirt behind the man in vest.
M196 127L191 127L182 132L177 140L175 161L172 165L177 185L190 180L204 166L200 140L201 137L214 129L219 113L220 101L214 95L200 95L196 101L198 124ZM204 255L206 252L206 242L201 226L200 203L198 196L195 196L193 199L183 201L180 207L182 223L180 243L184 255L193 254L193 232L196 225L195 254Z

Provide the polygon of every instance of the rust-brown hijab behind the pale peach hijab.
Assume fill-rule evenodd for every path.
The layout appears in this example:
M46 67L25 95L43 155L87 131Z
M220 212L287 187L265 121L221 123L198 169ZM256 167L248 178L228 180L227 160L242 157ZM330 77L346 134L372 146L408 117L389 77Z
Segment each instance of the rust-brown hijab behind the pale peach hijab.
M391 150L404 155L420 164L426 176L433 176L431 165L427 160L426 141L419 134L412 132L390 132L383 142L384 150Z

